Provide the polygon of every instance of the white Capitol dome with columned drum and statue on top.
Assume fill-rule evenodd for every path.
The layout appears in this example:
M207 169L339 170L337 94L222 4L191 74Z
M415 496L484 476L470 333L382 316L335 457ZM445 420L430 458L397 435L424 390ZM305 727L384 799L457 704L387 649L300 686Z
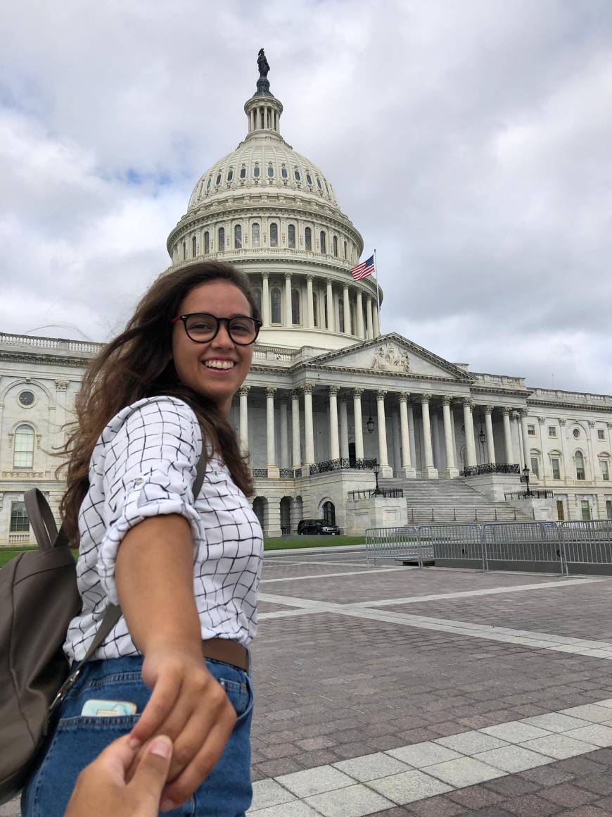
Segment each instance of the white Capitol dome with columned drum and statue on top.
M264 344L337 349L375 337L376 282L351 276L361 234L329 179L283 139L282 103L263 60L244 106L246 136L198 179L168 237L170 270L204 258L241 267L260 304Z

